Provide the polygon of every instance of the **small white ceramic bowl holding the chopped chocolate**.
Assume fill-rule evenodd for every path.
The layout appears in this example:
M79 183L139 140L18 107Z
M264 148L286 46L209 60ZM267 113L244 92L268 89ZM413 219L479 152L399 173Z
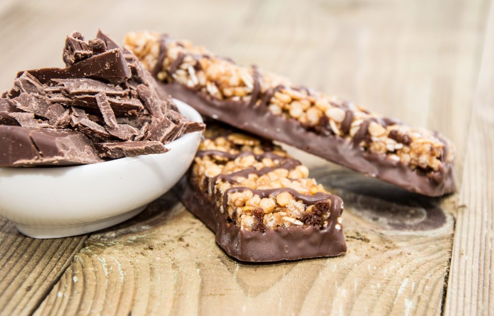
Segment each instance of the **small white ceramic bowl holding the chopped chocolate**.
M199 113L174 100L189 120ZM0 215L29 237L56 238L100 230L141 212L168 191L196 155L201 132L165 145L165 154L53 168L0 168Z

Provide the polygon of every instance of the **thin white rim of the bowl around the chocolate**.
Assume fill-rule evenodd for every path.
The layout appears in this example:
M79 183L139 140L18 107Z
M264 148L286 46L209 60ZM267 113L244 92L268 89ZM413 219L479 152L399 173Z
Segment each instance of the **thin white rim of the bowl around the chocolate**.
M185 116L187 120L189 121L195 121L195 122L201 122L203 123L204 120L202 116L197 112L196 109L194 109L192 106L189 104L180 101L178 99L172 98L173 102L177 106L178 112ZM202 133L201 131L198 132L192 132L192 133L187 133L181 135L179 138L165 144L166 148L170 147L180 147L183 146L183 143L187 143L190 141L191 138L194 137L194 134L196 133ZM20 172L29 172L29 171L40 171L40 170L73 170L75 168L82 169L82 168L91 168L95 166L101 166L101 165L110 165L110 164L115 164L115 163L129 163L135 160L140 160L143 159L147 156L154 156L154 155L166 155L166 153L163 154L148 154L148 155L139 155L139 156L134 156L134 157L124 157L124 158L117 158L117 159L112 159L108 161L102 161L102 162L97 162L97 163L89 163L89 164L80 164L80 165L75 165L75 166L33 166L33 167L0 167L0 170L9 170L10 172L13 170L17 170Z

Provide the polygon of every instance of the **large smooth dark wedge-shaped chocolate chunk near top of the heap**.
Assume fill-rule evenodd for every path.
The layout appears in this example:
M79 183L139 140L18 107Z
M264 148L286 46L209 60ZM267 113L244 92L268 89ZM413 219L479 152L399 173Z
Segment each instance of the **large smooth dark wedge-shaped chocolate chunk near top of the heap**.
M24 72L18 76L22 73ZM41 68L30 70L29 73L45 84L50 84L51 79L71 78L92 78L119 84L130 78L130 69L120 49L94 55L67 68Z

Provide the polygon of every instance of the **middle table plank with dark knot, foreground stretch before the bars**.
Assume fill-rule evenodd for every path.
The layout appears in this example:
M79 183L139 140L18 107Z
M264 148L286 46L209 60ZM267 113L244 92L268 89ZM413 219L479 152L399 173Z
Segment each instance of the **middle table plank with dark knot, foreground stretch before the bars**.
M452 215L439 201L350 171L314 172L345 199L347 255L237 262L167 194L135 219L89 237L36 315L439 313Z

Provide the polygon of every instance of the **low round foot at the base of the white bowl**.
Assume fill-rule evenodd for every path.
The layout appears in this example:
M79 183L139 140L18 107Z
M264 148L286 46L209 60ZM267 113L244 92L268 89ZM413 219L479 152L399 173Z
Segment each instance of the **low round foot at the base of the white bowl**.
M105 218L90 223L83 223L76 225L34 226L34 225L23 225L18 223L14 223L14 224L19 230L19 232L21 232L22 234L28 237L41 238L41 239L69 237L69 236L82 235L82 234L98 231L100 229L107 228L113 225L117 225L139 214L147 206L148 205L144 205L117 216Z

